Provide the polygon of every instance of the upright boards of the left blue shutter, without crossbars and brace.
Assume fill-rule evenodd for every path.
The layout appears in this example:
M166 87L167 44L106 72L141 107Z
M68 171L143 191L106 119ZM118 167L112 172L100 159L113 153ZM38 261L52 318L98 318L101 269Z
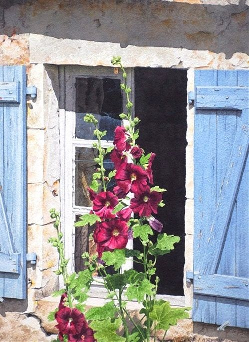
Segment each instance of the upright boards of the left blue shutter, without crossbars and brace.
M20 104L2 103L2 188L14 251L20 253L20 274L0 272L0 296L26 297L26 78L24 66L3 66L3 81L20 81ZM2 158L2 156L1 156ZM1 159L2 161L2 159Z

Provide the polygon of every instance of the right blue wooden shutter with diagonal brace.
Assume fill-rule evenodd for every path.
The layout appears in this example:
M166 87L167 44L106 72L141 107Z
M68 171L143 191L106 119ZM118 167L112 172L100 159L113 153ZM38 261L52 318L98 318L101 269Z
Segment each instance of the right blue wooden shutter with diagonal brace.
M193 321L249 328L249 71L196 70Z

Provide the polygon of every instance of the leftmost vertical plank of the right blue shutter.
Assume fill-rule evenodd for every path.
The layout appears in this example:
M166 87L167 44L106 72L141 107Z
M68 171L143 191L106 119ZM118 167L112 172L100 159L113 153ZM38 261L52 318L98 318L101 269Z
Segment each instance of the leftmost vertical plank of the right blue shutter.
M197 70L195 74L197 85L217 85L217 71ZM195 115L195 235L194 235L194 271L200 270L200 262L207 244L207 223L212 220L216 206L216 188L212 181L216 175L216 111L206 115L204 110L196 110ZM208 154L207 158L206 156ZM210 162L211 161L211 162ZM208 208L208 210L207 210ZM205 299L205 300L204 300ZM216 298L194 294L193 321L214 323L216 319Z

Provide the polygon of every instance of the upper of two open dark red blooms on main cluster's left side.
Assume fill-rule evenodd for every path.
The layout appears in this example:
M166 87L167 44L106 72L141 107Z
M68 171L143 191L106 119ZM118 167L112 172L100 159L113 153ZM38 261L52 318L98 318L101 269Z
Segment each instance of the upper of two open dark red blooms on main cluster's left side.
M118 198L110 191L103 191L97 194L93 200L93 211L102 219L111 219L114 207L118 204Z

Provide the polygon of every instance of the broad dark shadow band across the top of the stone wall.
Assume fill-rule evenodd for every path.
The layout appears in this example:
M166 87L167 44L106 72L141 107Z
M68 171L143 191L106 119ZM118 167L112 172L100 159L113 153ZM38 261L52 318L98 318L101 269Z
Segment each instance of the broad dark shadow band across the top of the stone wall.
M163 0L0 0L0 33L248 52L248 6ZM227 3L223 0L221 3Z

